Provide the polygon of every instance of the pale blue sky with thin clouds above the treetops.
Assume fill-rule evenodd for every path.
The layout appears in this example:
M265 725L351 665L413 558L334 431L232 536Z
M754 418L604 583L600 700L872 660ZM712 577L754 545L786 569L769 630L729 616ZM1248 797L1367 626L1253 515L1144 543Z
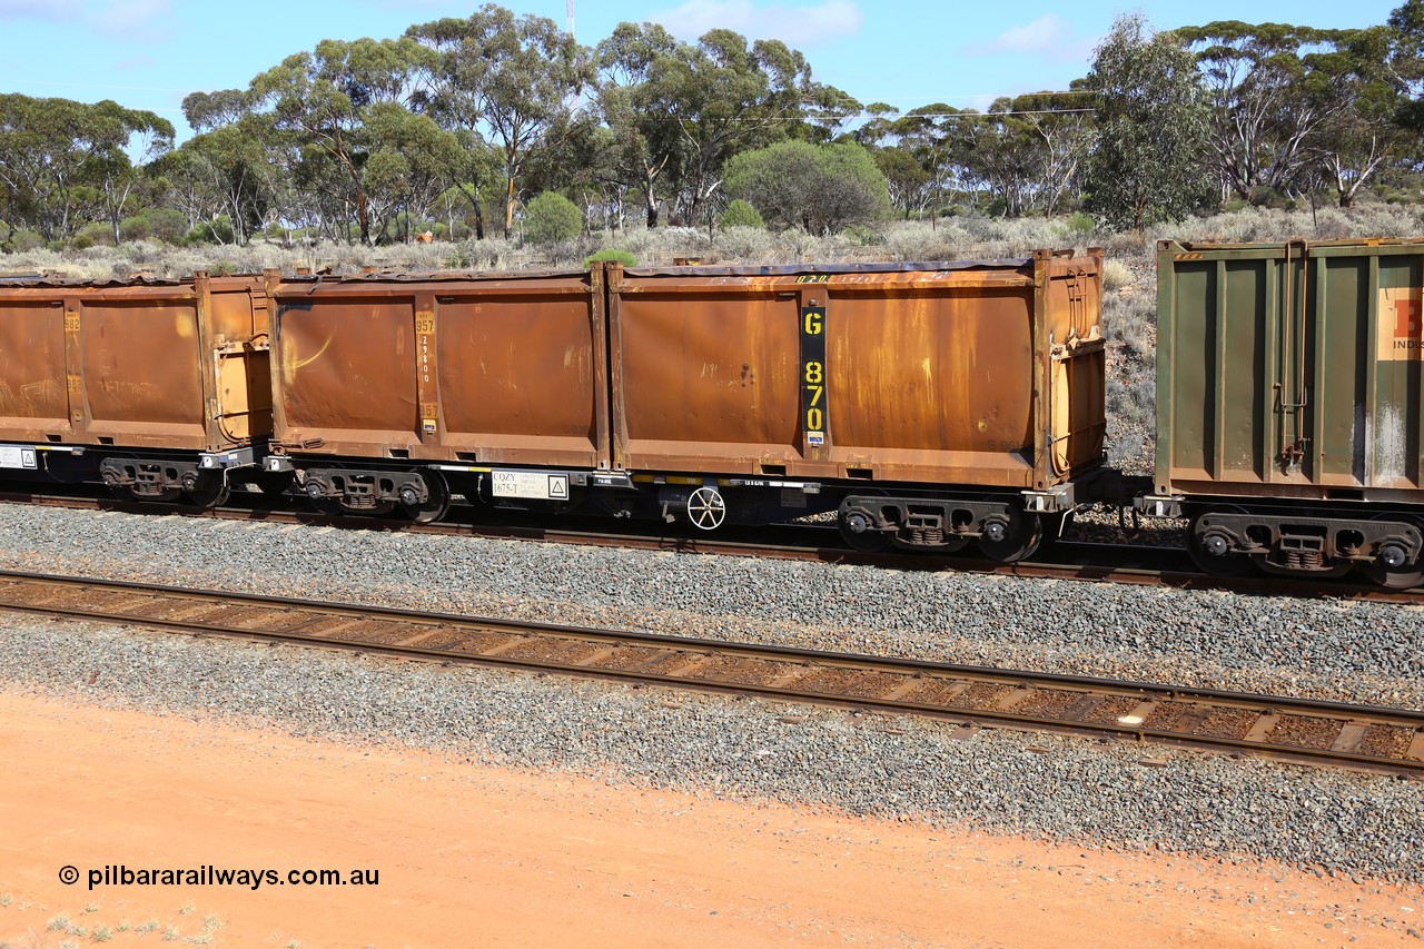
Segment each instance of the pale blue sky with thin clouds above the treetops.
M779 38L813 74L862 103L904 111L928 103L983 108L998 95L1061 90L1088 68L1092 47L1122 10L1155 28L1212 20L1314 27L1384 23L1403 0L1193 4L1143 0L1087 9L1037 0L577 0L585 44L622 20L654 20L695 40L712 27ZM155 111L187 137L182 97L245 87L283 57L323 38L400 36L413 23L468 16L450 0L0 0L0 91L81 101L112 98ZM565 0L501 6L562 24Z

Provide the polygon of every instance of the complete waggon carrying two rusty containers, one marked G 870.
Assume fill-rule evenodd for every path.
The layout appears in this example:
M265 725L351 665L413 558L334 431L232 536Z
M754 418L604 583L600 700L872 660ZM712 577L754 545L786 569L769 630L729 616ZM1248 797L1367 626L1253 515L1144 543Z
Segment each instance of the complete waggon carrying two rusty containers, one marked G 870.
M272 473L315 502L1028 556L1101 472L1101 252L273 279Z

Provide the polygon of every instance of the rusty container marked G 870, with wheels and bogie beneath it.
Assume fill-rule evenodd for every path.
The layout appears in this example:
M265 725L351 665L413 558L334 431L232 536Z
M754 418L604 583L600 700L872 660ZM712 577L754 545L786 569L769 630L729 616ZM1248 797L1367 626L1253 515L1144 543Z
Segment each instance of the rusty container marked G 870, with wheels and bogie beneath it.
M693 520L807 487L862 546L1025 556L1101 466L1101 274L1096 251L612 266L614 466L689 476Z

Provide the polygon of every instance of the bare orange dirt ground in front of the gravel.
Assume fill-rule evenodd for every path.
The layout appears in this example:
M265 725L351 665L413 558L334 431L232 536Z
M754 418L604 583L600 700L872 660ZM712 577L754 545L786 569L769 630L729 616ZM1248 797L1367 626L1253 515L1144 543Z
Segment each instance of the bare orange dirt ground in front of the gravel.
M0 945L1424 945L1424 891L518 774L0 693ZM377 886L104 886L91 868ZM64 885L58 871L80 869ZM1250 902L1255 901L1255 902ZM58 916L84 935L64 935ZM152 921L157 930L138 932ZM1390 921L1390 922L1386 922ZM127 923L125 929L120 929ZM169 929L171 928L171 929Z

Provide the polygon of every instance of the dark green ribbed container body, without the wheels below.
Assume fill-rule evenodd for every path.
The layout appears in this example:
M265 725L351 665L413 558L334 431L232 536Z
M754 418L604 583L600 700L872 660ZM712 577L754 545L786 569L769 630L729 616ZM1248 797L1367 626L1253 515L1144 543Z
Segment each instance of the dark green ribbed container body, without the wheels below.
M1424 500L1424 242L1158 251L1158 490Z

